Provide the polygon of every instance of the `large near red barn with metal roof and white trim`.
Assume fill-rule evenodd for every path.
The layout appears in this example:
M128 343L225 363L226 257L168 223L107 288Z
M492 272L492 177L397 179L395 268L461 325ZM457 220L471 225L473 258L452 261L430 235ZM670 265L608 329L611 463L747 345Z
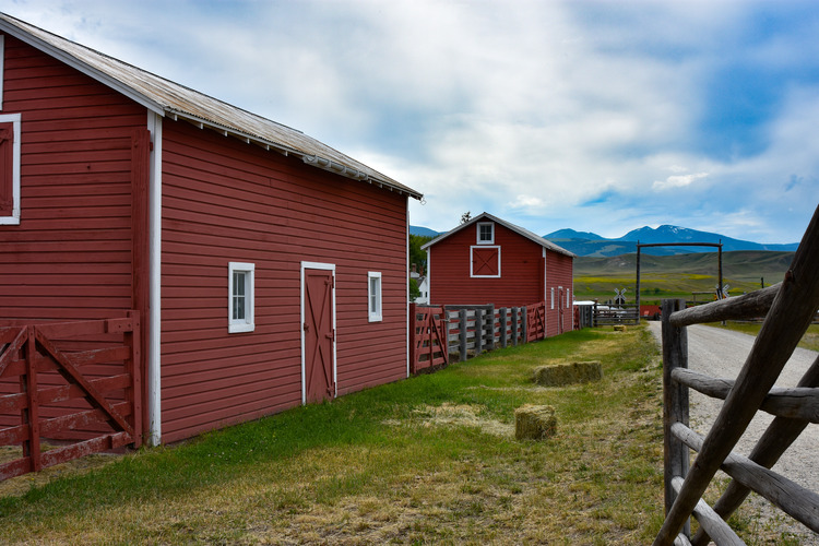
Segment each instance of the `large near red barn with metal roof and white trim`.
M418 192L4 14L0 71L0 321L139 311L153 443L407 377Z

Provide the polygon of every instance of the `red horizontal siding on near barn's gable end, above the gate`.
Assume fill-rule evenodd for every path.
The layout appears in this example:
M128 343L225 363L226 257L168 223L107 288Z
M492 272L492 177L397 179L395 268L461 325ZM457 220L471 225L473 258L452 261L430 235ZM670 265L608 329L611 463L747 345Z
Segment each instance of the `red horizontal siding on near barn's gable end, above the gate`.
M22 115L22 219L0 225L0 319L123 316L145 109L10 36L4 61L2 114Z

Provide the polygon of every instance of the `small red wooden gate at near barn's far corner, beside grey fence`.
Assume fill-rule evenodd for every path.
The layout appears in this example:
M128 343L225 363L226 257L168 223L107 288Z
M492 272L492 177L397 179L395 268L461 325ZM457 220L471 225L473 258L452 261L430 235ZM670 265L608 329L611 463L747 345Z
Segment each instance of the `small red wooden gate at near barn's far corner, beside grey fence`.
M410 372L449 364L448 312L410 304Z

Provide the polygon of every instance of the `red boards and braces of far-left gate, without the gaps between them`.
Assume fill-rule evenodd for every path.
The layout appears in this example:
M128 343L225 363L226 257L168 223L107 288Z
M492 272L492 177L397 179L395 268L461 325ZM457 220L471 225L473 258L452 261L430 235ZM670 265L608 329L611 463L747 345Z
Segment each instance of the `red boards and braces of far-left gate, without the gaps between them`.
M51 339L106 333L123 334L117 346L64 352ZM142 443L142 371L140 314L84 322L0 327L0 377L20 377L21 392L0 395L0 412L19 412L21 425L0 429L0 446L22 444L23 456L0 465L0 480L54 466L91 453ZM82 366L110 360L123 361L123 373L87 379ZM68 384L41 388L38 371L57 371ZM112 403L105 393L124 390L126 400ZM41 418L43 405L84 399L92 406L72 414ZM130 422L127 416L130 415ZM106 423L112 431L69 446L40 451L40 440L60 431Z

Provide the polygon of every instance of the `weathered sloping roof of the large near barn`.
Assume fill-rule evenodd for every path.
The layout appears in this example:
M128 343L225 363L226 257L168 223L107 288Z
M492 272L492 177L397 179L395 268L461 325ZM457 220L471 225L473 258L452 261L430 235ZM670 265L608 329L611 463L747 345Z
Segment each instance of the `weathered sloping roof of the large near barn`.
M266 150L300 157L306 164L356 180L376 183L420 200L424 195L307 134L166 80L114 57L0 13L0 33L66 62L147 109L200 128L253 142Z

